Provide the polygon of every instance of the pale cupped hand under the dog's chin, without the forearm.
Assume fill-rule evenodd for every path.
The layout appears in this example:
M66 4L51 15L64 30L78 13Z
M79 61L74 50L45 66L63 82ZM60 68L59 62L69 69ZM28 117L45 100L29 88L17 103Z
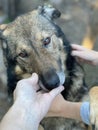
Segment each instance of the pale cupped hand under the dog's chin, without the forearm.
M44 118L53 99L64 87L60 86L48 93L37 92L38 89L38 75L34 73L30 78L19 81L14 91L15 102L26 107L27 112L29 111L33 117L33 122L37 123Z

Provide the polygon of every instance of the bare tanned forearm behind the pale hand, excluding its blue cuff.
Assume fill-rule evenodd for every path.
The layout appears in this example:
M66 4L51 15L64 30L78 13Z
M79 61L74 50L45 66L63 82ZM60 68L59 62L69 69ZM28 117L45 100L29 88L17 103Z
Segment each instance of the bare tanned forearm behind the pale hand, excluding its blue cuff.
M61 99L61 102L58 103L58 105L56 105L57 106L56 108L54 104L53 109L49 111L47 116L65 117L65 118L81 120L81 117L80 117L81 103L69 102L64 99L62 100L62 98L60 99ZM58 101L59 101L59 98L58 98Z

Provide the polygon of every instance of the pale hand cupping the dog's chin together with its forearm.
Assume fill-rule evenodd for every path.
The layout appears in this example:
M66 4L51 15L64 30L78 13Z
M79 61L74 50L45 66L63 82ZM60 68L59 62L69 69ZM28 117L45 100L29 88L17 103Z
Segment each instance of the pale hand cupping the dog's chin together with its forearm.
M47 93L37 92L38 89L36 73L18 82L14 91L14 103L2 119L0 130L38 130L53 99L64 87L59 86Z

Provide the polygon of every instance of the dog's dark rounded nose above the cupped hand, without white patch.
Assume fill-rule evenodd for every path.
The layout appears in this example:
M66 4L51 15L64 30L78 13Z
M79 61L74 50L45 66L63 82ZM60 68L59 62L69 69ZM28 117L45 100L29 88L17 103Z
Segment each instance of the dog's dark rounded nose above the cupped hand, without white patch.
M40 78L41 78L42 84L48 90L57 88L60 84L59 77L54 70L51 70L42 74Z

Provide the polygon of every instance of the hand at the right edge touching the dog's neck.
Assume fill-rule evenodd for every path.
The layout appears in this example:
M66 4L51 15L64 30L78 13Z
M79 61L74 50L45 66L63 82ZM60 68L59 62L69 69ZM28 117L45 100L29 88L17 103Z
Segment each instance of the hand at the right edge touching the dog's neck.
M92 65L98 65L98 52L77 44L72 44L71 46L73 49L72 56L76 56L79 61Z

